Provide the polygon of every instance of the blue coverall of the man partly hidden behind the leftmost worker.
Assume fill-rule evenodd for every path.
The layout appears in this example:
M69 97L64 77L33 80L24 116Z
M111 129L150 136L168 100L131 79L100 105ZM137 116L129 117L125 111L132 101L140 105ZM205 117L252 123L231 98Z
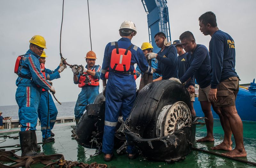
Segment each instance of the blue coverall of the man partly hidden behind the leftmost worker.
M53 79L58 79L60 78L60 73L58 72L58 69L60 66L58 66L54 71L45 68L45 76L47 80L53 80ZM48 117L48 98L47 98L47 92L42 91L41 93L41 99L39 102L39 108L38 108L38 118L41 122L41 132L43 138L45 138L45 133L46 133L46 138L51 136L51 130L55 124L56 117L58 114L58 110L54 104L54 101L52 99L52 94L49 93L49 118ZM48 128L47 127L47 120L48 120Z

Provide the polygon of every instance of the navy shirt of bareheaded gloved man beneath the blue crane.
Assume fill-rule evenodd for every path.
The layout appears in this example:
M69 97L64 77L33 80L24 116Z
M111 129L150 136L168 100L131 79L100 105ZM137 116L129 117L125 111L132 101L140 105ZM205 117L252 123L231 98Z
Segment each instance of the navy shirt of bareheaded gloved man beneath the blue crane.
M178 78L177 49L173 45L166 46L157 53L158 68L156 73L162 74L163 79Z

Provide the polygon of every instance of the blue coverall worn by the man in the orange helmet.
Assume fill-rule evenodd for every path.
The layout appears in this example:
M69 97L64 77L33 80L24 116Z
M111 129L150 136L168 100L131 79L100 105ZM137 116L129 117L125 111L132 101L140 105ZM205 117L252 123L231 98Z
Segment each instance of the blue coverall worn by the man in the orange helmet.
M85 66L87 68L87 65ZM100 65L94 65L91 70L95 70L95 76L94 78L97 78L100 80L100 74L101 74L101 67ZM80 79L80 74L77 76L78 81ZM75 84L78 84L77 82L74 82ZM82 91L79 93L78 98L76 100L76 106L75 106L75 118L81 118L84 114L84 111L86 109L86 106L88 104L93 103L95 98L99 95L99 88L100 86L91 86L87 85L82 87ZM85 106L79 106L79 104L85 105Z

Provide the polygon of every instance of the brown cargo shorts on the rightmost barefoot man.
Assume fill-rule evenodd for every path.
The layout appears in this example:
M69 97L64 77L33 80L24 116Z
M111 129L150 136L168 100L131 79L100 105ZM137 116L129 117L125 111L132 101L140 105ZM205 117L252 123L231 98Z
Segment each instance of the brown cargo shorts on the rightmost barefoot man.
M236 106L236 95L239 91L239 78L236 76L220 82L217 86L216 107Z

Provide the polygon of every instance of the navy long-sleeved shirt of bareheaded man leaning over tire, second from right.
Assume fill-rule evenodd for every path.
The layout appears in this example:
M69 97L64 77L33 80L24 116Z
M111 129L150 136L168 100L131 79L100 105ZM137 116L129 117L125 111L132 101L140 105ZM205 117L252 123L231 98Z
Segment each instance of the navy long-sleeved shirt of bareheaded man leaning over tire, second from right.
M183 84L194 75L201 88L209 86L211 83L211 61L208 49L202 44L197 44L193 54L188 52L187 57L189 68L180 78L180 82Z

